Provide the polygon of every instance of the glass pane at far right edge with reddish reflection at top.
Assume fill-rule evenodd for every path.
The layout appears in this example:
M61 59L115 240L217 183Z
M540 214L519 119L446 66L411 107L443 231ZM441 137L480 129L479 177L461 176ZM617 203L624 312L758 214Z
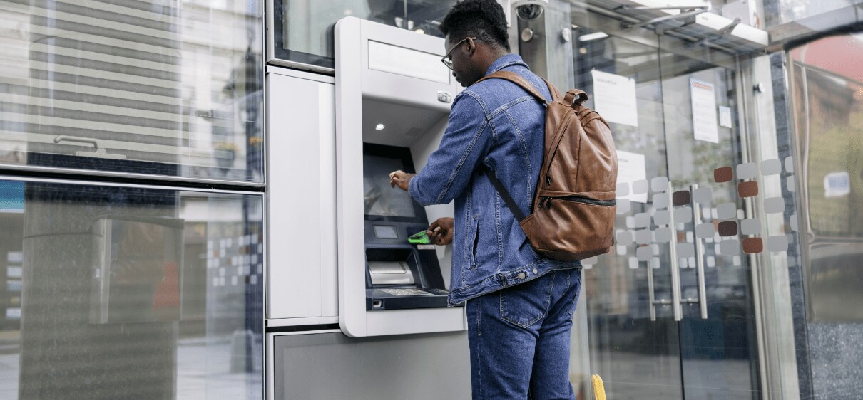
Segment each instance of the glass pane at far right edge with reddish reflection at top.
M842 34L790 52L808 267L809 320L863 322L863 36ZM782 204L783 209L785 204ZM778 245L778 243L777 243ZM852 329L860 337L863 330Z

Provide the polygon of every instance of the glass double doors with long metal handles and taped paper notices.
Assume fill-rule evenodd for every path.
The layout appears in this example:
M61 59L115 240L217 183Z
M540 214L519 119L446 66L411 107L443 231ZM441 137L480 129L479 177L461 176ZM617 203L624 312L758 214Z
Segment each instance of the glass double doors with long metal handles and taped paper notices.
M616 246L584 263L590 372L614 399L757 398L746 233L760 228L746 197L758 188L733 58L581 26L576 87L611 125L620 168Z

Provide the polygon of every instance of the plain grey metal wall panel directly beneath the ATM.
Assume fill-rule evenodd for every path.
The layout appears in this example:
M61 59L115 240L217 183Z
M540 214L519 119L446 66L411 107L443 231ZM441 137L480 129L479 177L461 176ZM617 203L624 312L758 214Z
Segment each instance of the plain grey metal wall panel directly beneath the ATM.
M354 339L289 334L274 339L274 398L470 398L468 334Z

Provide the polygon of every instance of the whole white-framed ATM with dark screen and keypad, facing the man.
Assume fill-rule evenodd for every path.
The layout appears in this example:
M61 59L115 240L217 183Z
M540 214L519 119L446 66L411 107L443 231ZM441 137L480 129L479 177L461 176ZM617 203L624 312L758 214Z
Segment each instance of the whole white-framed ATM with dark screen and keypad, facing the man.
M339 325L350 336L466 328L447 307L450 259L408 236L451 205L423 207L389 172L419 171L438 148L458 87L444 40L347 17L336 24Z

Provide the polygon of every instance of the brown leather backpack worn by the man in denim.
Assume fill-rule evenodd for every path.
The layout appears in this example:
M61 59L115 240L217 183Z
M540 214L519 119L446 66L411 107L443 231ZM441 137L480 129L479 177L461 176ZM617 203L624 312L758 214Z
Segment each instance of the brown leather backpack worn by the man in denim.
M608 253L612 247L617 186L614 138L602 116L583 107L588 95L573 89L560 98L548 81L552 101L514 72L494 72L545 104L545 153L532 214L521 213L494 172L484 168L494 188L524 229L537 253L574 261Z

